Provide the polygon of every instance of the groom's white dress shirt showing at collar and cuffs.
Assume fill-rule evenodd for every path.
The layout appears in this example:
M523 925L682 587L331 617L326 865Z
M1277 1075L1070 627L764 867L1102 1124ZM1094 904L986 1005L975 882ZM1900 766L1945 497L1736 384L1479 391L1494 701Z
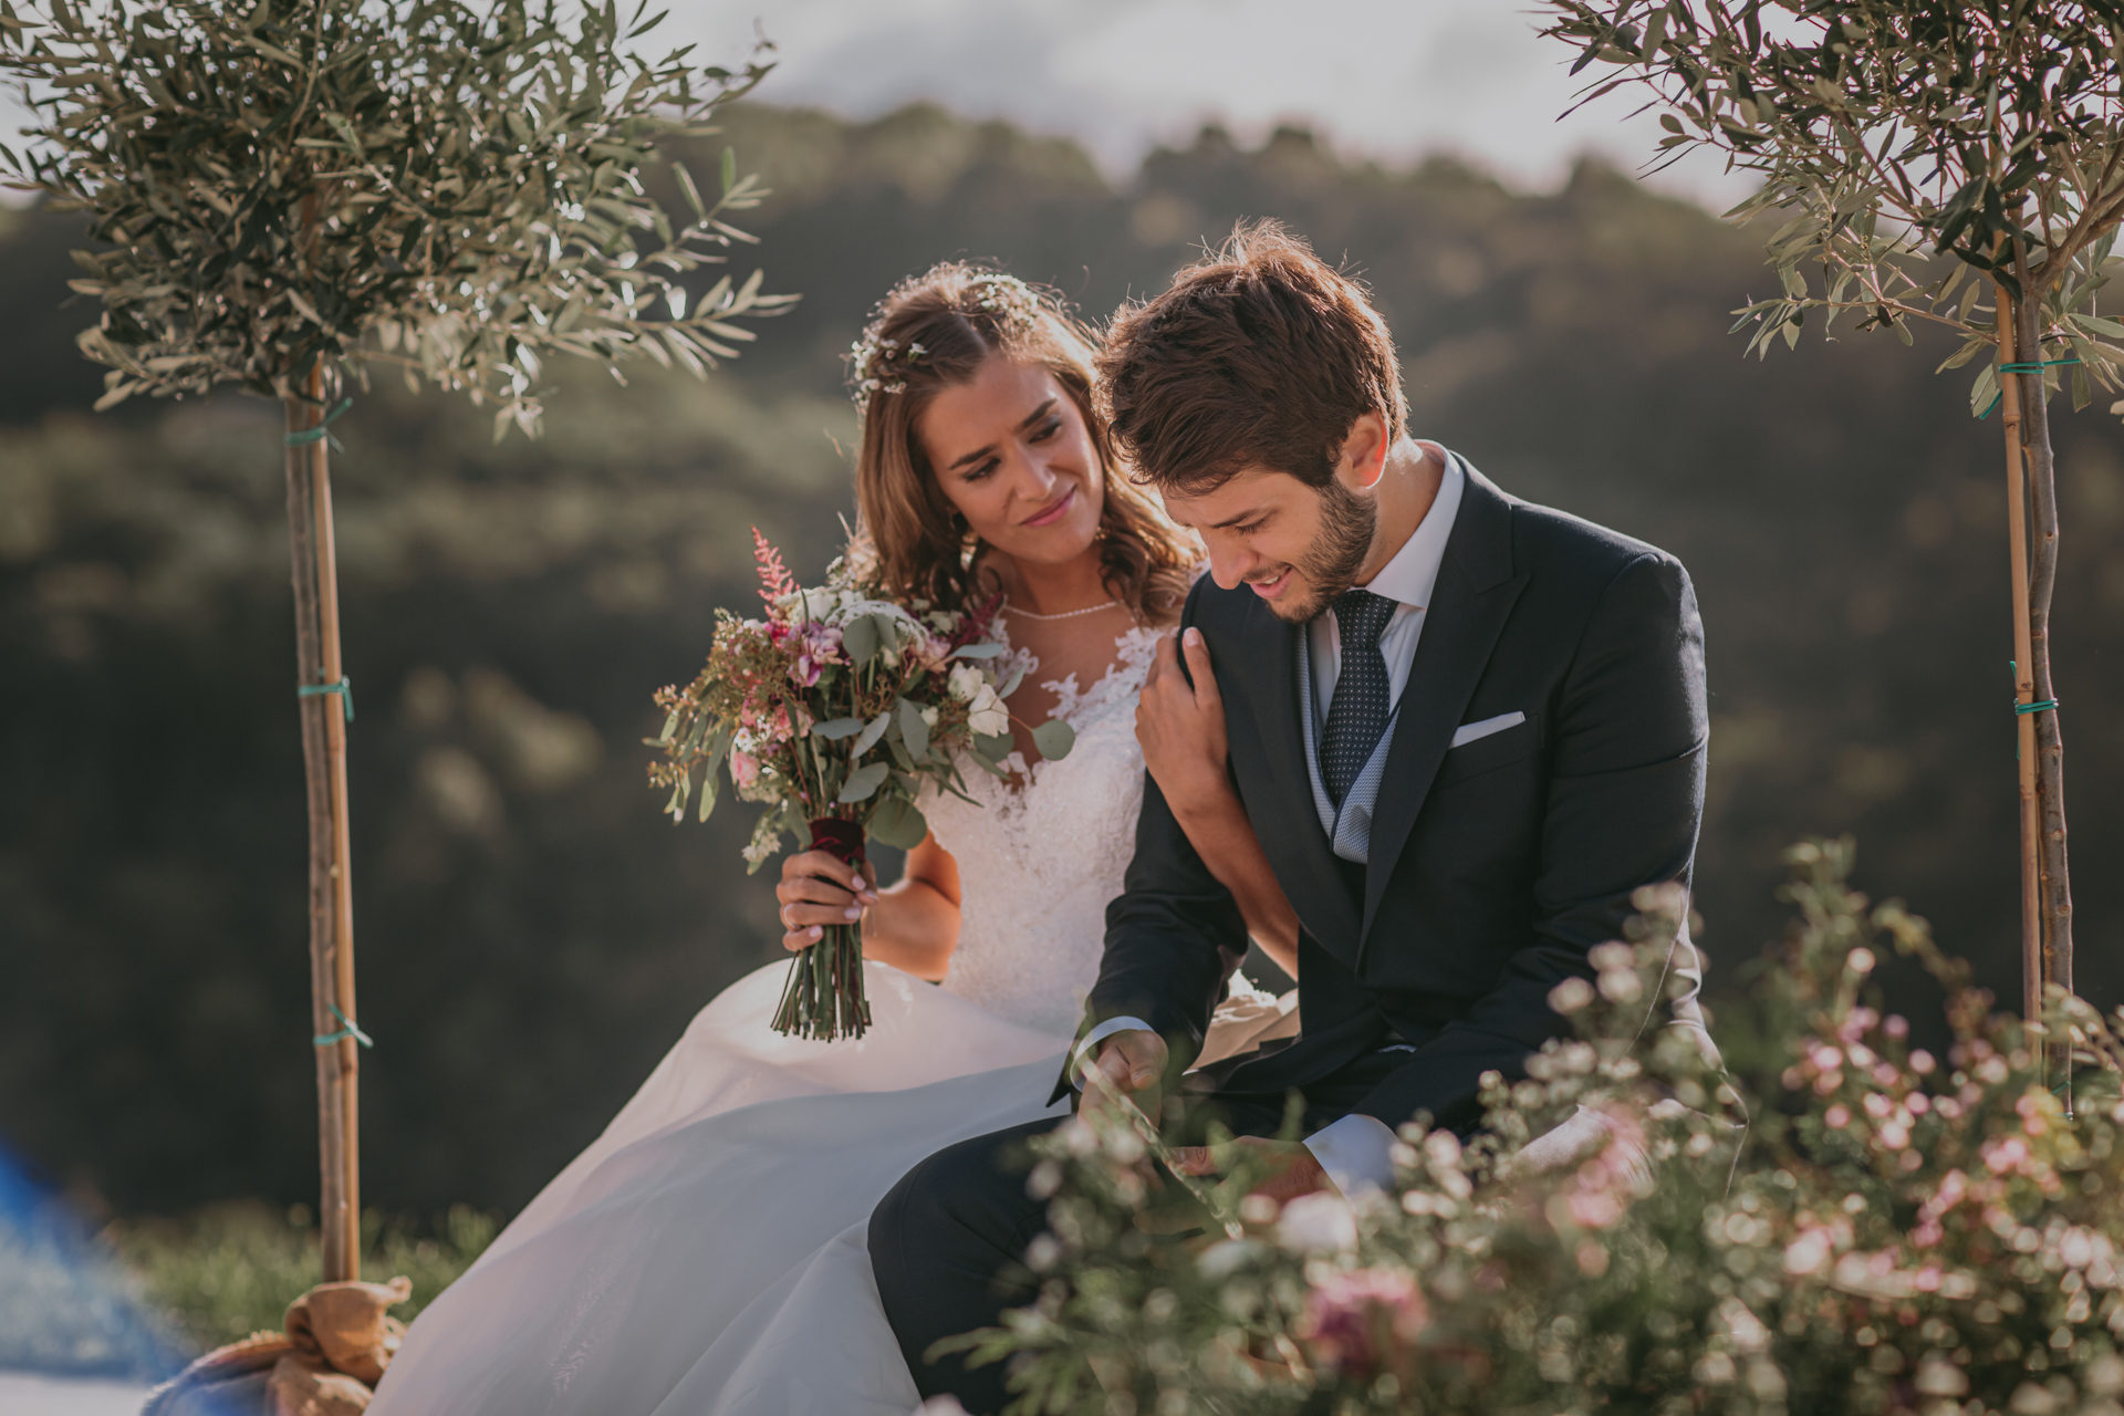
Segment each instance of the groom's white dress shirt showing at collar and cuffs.
M1440 448L1440 452L1444 450ZM1432 590L1444 565L1446 539L1453 535L1453 518L1459 516L1466 486L1468 473L1461 469L1461 461L1444 452L1444 476L1438 482L1438 495L1432 499L1429 512L1423 514L1423 522L1402 541L1402 548L1393 552L1387 565L1378 569L1378 575L1364 586L1372 594L1385 594L1389 601L1395 601L1393 616L1378 635L1378 652L1387 660L1389 713L1400 709L1402 690L1408 688L1408 671L1417 662L1417 639L1423 635L1423 614L1432 603ZM1342 677L1342 631L1334 607L1306 626L1306 660L1311 660L1313 669L1313 720L1325 724L1328 707L1334 703L1336 679ZM1387 735L1391 737L1391 732L1393 720L1389 718ZM1315 781L1319 781L1319 764L1308 762L1308 766ZM1328 824L1328 830L1332 836L1336 834L1334 824ZM1300 998L1302 1006L1304 1000ZM1136 1017L1111 1017L1087 1032L1070 1057L1070 1078L1077 1081L1077 1066L1098 1042L1130 1030L1151 1032L1149 1023ZM1077 1085L1081 1087L1083 1083L1079 1081ZM1393 1129L1385 1121L1359 1115L1323 1125L1304 1140L1306 1149L1313 1151L1313 1159L1319 1161L1321 1170L1328 1172L1328 1178L1342 1193L1389 1187L1393 1182Z

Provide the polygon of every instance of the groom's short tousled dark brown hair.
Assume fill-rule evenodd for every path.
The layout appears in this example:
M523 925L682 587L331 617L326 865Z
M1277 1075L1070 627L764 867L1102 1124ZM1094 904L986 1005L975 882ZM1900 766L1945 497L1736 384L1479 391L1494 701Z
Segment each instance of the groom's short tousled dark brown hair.
M1124 306L1098 378L1134 478L1187 495L1243 467L1319 488L1357 418L1385 416L1389 439L1408 422L1393 338L1364 287L1274 221L1240 225L1172 289Z

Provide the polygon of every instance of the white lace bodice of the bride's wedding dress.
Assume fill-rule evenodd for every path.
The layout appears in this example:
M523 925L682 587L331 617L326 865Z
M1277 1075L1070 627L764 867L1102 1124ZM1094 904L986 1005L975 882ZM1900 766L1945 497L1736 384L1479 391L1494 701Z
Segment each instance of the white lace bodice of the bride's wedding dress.
M1077 730L1060 762L1017 754L1011 785L966 769L971 807L952 796L922 802L930 830L958 860L958 949L943 987L1015 1023L1060 1036L1077 1030L1098 979L1107 902L1136 845L1143 749L1136 692L1158 652L1158 631L1132 628L1119 660L1090 690L1070 675L1047 684L1056 715Z

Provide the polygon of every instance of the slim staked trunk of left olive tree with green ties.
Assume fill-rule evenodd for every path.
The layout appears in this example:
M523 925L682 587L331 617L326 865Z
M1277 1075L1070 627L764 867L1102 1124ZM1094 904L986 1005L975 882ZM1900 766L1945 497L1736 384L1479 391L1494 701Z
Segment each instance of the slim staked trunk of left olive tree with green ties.
M323 369L287 399L287 431L325 422ZM331 533L331 473L323 437L287 450L287 514L295 577L297 684L323 688L344 677L340 658L338 558ZM353 862L346 811L344 694L312 692L302 705L302 756L310 800L310 1023L314 1036L344 1030L355 1013ZM338 1008L338 1013L333 1013ZM359 1053L342 1036L316 1053L319 1227L325 1282L361 1276Z

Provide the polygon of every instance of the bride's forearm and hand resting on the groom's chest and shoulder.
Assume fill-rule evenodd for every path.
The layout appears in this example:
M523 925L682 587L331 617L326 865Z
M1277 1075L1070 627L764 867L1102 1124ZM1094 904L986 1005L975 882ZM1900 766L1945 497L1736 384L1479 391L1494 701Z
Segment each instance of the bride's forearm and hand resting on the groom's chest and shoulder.
M1277 873L1262 851L1247 807L1226 771L1223 698L1209 667L1209 650L1196 631L1189 641L1187 675L1181 673L1179 650L1168 635L1158 641L1158 660L1143 681L1136 701L1136 741L1175 819L1187 832L1187 843L1217 883L1232 892L1232 902L1247 921L1247 934L1277 968L1298 977L1298 911L1277 883Z

